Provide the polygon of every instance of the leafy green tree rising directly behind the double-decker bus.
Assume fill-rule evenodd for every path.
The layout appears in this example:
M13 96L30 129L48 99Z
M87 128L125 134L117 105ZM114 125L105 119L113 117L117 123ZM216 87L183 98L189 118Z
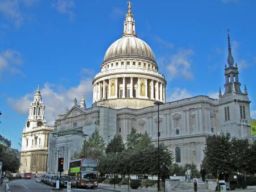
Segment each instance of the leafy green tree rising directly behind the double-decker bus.
M89 139L84 142L81 151L74 153L72 159L76 160L84 157L100 158L104 155L105 145L103 137L95 130Z

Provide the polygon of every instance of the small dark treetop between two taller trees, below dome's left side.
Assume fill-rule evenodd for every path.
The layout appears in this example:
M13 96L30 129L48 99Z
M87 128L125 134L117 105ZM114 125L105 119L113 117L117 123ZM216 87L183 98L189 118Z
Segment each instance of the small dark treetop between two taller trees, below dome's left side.
M106 154L109 153L121 153L125 150L125 144L121 135L115 135L106 147Z

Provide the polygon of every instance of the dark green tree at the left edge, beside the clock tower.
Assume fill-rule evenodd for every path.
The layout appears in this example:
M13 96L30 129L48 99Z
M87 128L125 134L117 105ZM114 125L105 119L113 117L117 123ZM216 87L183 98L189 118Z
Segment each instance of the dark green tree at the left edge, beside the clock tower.
M18 150L11 148L11 141L0 135L0 161L3 171L16 172L19 169Z

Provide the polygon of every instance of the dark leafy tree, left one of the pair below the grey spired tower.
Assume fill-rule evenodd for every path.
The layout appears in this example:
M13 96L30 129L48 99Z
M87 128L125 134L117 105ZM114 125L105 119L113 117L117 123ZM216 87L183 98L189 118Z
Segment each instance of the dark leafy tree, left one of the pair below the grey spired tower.
M208 136L205 140L204 166L217 176L219 172L230 172L230 148L229 136L221 133L220 135Z

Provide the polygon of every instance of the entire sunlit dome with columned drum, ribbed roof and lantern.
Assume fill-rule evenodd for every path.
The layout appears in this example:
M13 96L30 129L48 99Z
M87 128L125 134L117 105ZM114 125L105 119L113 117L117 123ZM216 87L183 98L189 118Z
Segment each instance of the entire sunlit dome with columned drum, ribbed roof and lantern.
M166 100L166 80L158 72L151 48L137 38L130 8L123 23L122 38L110 45L101 72L92 82L93 105L142 108Z

